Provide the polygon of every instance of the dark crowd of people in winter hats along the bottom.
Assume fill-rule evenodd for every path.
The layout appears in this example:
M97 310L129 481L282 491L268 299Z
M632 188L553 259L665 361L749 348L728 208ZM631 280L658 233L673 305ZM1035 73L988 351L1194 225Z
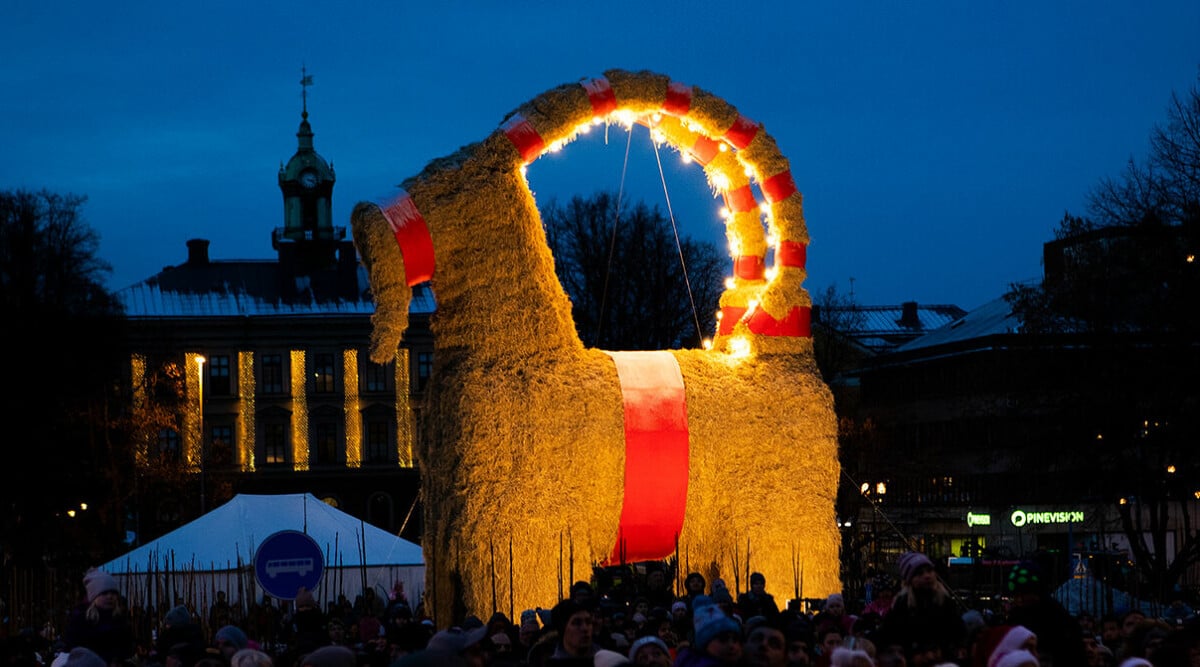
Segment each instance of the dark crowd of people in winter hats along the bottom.
M367 589L322 608L311 591L292 605L248 609L217 596L205 615L175 605L149 637L125 608L116 581L92 570L86 600L61 636L8 637L14 667L1200 667L1200 619L1182 600L1160 618L1140 609L1073 615L1032 561L1009 572L1002 611L964 608L934 563L908 552L870 600L829 595L816 609L782 607L761 573L731 591L691 572L676 594L661 569L617 595L576 582L551 608L437 627L402 588Z

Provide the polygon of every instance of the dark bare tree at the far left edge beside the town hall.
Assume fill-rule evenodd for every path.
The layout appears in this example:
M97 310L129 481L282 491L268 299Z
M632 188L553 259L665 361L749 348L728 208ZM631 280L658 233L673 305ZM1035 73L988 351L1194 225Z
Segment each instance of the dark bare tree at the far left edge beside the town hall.
M100 239L83 220L84 197L47 191L0 192L0 305L2 344L11 384L2 405L5 464L0 515L5 560L41 561L62 536L61 516L89 501L82 535L110 535L103 527L119 503L103 482L106 434L97 423L119 385L124 357L120 312L102 278ZM58 530L58 533L55 533ZM88 541L71 553L88 555Z

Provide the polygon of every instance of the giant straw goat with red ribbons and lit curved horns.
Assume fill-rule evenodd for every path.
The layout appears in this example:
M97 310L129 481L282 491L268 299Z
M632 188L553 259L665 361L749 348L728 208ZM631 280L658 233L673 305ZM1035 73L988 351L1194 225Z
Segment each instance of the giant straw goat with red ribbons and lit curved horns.
M523 168L602 122L647 125L725 198L733 277L710 350L622 361L575 332ZM802 196L760 124L702 89L613 70L532 100L402 188L356 206L353 228L377 305L372 359L395 355L409 286L432 280L438 298L414 453L439 618L548 607L594 564L671 546L680 567L743 588L763 572L780 597L840 589L836 420L809 336ZM655 468L660 450L685 470ZM683 501L637 525L628 500L662 485ZM664 524L674 510L680 524ZM638 531L654 543L634 545Z

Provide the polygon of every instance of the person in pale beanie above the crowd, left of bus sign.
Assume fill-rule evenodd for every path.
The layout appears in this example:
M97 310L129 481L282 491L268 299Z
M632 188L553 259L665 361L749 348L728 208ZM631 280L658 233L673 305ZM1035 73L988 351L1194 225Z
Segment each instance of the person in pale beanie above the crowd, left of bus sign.
M86 601L71 609L64 627L66 648L91 649L106 662L133 657L133 626L128 614L119 608L116 579L103 570L91 569L83 577L83 587Z

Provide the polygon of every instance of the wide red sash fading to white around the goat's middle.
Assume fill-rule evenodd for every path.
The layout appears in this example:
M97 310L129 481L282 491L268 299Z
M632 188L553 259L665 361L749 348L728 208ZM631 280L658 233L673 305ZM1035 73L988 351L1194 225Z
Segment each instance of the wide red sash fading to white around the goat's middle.
M670 351L610 351L625 408L625 495L607 564L676 551L688 505L688 402Z

